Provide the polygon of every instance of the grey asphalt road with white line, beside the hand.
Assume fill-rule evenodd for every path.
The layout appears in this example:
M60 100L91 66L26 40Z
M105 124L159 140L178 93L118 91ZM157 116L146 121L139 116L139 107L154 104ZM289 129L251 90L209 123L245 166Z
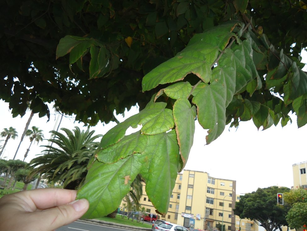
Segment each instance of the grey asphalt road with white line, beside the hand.
M112 228L107 226L88 224L84 222L74 221L68 225L62 226L56 231L130 231L129 229Z

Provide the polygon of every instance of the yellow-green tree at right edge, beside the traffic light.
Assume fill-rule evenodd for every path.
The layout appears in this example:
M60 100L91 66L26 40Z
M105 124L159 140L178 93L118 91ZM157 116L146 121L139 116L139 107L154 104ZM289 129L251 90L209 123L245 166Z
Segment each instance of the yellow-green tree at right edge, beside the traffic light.
M306 227L307 190L301 187L291 190L284 194L284 201L291 206L286 216L289 227L295 229Z

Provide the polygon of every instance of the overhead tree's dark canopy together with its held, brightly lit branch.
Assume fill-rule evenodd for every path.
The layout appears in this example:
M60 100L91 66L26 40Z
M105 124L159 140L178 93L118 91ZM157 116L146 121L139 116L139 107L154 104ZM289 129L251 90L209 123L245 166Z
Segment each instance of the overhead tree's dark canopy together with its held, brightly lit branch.
M303 1L2 4L0 98L13 116L28 104L49 115L45 102L55 102L62 113L95 125L114 121L114 109L140 106L103 136L90 161L78 191L90 201L84 217L114 211L138 174L165 214L196 119L208 129L207 144L229 123L252 119L267 129L286 125L289 113L299 127L307 123L307 75L299 62L307 46Z

